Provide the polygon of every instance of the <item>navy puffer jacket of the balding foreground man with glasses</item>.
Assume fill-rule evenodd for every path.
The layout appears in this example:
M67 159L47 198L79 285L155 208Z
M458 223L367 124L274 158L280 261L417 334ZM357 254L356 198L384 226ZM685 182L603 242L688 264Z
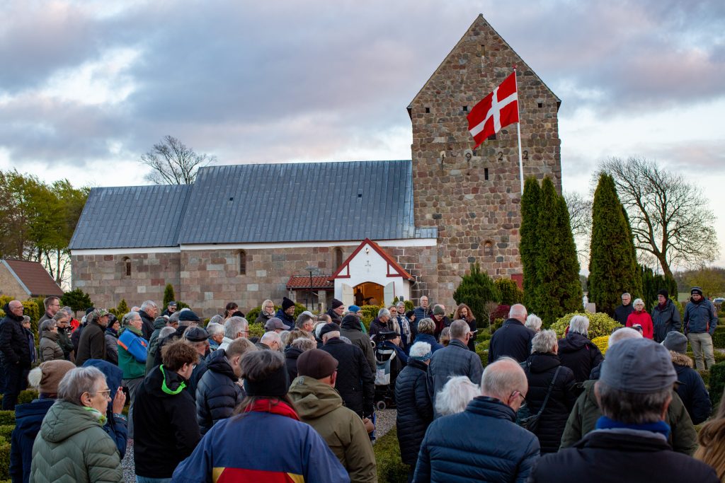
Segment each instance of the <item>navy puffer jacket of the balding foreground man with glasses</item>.
M428 426L413 482L526 482L539 440L500 400L479 396Z

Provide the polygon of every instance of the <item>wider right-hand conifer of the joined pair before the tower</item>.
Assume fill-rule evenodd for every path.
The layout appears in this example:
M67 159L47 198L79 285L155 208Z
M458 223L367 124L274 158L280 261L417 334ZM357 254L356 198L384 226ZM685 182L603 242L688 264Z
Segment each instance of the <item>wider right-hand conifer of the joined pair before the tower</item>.
M566 201L548 177L539 201L536 266L536 314L549 325L581 306L581 282Z

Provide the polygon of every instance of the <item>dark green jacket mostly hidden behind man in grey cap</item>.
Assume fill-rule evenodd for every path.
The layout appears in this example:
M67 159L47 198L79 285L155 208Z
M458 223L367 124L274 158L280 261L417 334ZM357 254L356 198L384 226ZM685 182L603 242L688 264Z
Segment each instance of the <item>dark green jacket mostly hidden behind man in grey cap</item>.
M597 381L585 381L584 392L579 395L574 408L566 421L566 429L561 437L561 448L568 448L581 440L584 434L594 431L597 419L602 416L597 399L594 394L594 385ZM670 426L671 432L668 442L672 449L678 453L692 455L697 449L697 432L692 425L687 409L679 398L677 392L672 391L672 402L667 409L665 422Z

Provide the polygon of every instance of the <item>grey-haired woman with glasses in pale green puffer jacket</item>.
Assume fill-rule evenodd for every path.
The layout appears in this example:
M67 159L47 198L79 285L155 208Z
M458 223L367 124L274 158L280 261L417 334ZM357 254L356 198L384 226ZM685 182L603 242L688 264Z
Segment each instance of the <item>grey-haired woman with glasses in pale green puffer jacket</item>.
M124 481L116 444L103 429L111 390L95 367L65 374L33 444L30 481Z

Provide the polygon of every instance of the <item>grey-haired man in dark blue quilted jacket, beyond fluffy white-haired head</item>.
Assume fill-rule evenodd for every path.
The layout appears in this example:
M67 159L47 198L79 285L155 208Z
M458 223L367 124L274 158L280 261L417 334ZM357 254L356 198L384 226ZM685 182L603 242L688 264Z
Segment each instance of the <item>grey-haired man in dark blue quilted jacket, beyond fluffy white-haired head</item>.
M436 350L428 368L428 391L434 408L436 395L451 376L467 376L473 384L481 380L483 365L479 355L468 350L471 328L463 320L455 320L450 325L451 340L447 347ZM439 415L436 413L436 417Z

